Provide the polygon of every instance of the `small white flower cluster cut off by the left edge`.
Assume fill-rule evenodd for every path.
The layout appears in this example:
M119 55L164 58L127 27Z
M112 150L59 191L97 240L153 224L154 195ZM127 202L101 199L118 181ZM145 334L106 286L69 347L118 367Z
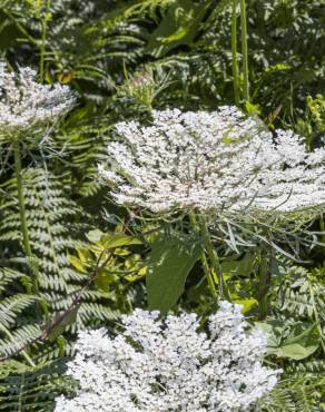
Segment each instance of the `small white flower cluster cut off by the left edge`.
M67 112L75 98L67 86L40 85L37 72L17 73L0 66L0 134L13 135L53 122Z

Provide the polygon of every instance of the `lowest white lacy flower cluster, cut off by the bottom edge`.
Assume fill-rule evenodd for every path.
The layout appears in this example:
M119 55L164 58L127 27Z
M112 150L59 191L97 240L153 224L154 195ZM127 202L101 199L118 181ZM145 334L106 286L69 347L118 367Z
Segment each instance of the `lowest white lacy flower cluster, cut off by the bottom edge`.
M249 411L277 383L279 370L262 365L266 336L247 334L240 306L221 302L209 317L209 336L195 314L136 310L124 333L80 332L68 374L79 381L55 412Z

